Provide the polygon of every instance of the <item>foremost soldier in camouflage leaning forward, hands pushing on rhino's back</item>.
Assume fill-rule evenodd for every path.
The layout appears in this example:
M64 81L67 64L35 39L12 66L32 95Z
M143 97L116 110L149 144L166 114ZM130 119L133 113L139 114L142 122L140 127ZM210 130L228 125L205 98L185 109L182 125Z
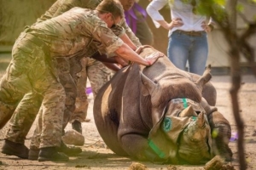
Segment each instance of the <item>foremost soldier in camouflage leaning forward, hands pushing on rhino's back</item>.
M96 9L73 8L32 26L15 42L13 59L1 80L0 108L9 114L15 108L12 104L19 102L24 94L35 92L42 96L43 122L38 161L68 160L65 154L56 150L61 144L65 92L55 70L55 58L89 53L90 42L94 41L98 43L96 48L104 48L108 54L115 53L138 64L152 65L155 61L155 58L141 58L131 50L136 49L134 45L128 41L129 48L109 30L123 18L119 3L104 0ZM127 42L125 36L122 38Z

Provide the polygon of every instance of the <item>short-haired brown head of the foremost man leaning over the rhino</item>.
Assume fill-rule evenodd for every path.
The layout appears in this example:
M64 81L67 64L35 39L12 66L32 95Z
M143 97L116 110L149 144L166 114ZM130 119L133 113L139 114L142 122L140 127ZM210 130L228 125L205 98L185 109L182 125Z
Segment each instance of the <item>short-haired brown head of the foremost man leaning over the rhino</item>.
M96 10L101 14L100 18L108 24L108 27L114 26L125 17L122 4L118 0L103 0Z

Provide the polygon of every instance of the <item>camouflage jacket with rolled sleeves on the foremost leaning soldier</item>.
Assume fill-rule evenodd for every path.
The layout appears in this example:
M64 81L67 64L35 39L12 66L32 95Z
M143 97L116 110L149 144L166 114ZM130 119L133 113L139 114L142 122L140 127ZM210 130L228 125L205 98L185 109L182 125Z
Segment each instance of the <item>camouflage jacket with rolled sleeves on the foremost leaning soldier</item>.
M28 32L44 41L53 57L90 56L92 42L99 44L97 48L112 54L123 44L95 11L87 8L72 8L52 19L38 22Z

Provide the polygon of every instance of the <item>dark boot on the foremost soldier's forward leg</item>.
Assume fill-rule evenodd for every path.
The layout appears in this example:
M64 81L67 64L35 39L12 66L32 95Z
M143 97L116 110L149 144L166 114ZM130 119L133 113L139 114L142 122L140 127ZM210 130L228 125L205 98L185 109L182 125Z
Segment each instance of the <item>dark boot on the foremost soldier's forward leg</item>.
M40 149L38 161L69 161L69 158L64 153L59 153L56 147L46 147Z

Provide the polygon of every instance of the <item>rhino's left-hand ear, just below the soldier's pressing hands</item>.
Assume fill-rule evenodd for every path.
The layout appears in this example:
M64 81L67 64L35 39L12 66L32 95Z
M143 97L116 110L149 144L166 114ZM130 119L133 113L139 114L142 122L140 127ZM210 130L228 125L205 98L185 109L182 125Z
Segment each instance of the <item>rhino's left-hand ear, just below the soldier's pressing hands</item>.
M153 94L154 89L156 88L156 84L152 82L148 77L146 77L142 71L141 71L141 78L143 82L143 86L142 86L143 96L148 96L150 94Z

